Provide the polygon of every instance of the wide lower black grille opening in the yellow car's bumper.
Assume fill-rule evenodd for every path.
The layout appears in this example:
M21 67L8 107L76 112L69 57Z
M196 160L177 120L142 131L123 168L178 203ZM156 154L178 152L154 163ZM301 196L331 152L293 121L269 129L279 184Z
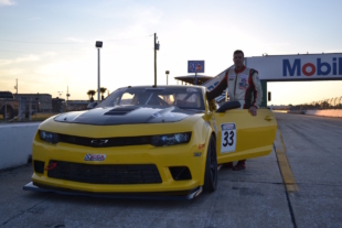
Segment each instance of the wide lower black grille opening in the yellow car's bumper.
M57 163L47 171L47 176L65 181L89 184L157 184L161 183L159 171L154 164L82 164L50 161Z

